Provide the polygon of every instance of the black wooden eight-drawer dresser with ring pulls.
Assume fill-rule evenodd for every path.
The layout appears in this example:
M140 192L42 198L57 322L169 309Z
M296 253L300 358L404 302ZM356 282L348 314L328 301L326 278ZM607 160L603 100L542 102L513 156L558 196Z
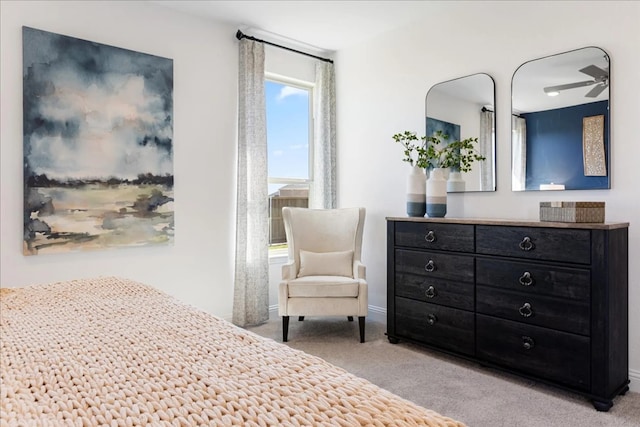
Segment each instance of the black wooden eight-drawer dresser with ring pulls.
M629 390L628 223L387 218L387 336L591 399Z

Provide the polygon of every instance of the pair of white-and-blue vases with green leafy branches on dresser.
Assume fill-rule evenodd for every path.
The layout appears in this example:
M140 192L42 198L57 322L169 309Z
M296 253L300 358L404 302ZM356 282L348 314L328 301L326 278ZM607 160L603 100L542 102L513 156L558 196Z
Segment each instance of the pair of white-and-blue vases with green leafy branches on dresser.
M485 160L475 148L478 138L466 138L446 143L449 136L436 131L432 136L418 137L415 132L405 131L393 135L393 140L404 149L403 161L412 166L407 181L407 214L419 215L421 193L420 184L424 183L424 173L420 176L416 169L430 171L425 191L425 211L430 217L443 217L447 212L447 175L449 170L455 173L469 172L476 161ZM422 185L424 188L424 185Z

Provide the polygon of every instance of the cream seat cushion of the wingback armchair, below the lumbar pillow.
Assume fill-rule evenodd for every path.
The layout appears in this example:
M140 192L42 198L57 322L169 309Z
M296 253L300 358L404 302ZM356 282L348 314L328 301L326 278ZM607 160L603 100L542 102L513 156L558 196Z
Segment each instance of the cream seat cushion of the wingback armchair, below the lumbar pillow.
M289 298L357 298L359 286L359 280L339 276L306 276L288 283Z

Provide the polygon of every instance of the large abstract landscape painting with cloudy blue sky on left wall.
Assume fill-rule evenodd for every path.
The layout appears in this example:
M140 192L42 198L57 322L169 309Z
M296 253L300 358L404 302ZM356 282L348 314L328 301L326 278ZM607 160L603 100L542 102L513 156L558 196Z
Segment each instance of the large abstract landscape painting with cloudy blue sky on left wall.
M173 61L23 27L23 253L172 244Z

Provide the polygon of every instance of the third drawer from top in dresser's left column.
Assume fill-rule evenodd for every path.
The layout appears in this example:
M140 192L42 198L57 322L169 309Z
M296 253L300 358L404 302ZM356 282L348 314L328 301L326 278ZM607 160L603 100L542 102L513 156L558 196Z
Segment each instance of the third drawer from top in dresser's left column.
M396 295L433 304L473 310L473 282L452 282L396 272Z

